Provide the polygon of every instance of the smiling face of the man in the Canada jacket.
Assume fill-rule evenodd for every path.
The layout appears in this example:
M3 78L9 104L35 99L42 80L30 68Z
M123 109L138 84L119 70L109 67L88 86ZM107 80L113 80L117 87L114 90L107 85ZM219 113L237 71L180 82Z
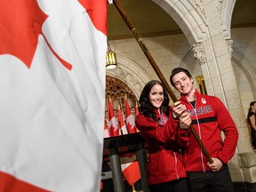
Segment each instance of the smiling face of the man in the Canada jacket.
M194 90L193 79L190 79L184 72L180 72L172 77L175 89L181 94L188 95Z

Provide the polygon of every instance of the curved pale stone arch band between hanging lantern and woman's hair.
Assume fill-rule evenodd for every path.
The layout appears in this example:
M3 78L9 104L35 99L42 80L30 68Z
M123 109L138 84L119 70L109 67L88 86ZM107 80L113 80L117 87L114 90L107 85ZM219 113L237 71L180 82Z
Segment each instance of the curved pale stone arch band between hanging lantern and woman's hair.
M137 100L140 98L140 93L145 84L150 80L147 71L140 67L132 60L125 58L116 53L117 67L108 69L107 76L115 76L117 79L123 81L134 92Z

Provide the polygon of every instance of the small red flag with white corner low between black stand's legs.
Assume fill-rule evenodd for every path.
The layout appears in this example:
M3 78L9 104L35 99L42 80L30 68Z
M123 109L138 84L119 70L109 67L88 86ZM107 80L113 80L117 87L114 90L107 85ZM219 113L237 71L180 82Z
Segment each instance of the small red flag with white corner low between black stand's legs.
M131 186L140 180L140 167L137 161L121 164L121 168L125 179Z

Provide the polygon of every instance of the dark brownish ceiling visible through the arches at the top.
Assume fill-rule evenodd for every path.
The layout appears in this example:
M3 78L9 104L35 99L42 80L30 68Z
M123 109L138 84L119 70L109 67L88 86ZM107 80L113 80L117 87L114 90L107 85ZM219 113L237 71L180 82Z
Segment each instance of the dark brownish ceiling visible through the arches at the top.
M182 33L171 16L152 0L119 0L140 36ZM256 0L236 0L231 28L256 26ZM117 12L108 4L108 39L132 37L130 29Z

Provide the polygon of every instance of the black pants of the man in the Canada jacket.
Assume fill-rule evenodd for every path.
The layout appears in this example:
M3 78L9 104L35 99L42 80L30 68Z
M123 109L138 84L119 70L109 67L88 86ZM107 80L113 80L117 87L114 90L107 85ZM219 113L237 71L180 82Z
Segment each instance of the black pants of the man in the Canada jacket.
M227 164L219 172L187 172L187 175L192 192L234 192Z

